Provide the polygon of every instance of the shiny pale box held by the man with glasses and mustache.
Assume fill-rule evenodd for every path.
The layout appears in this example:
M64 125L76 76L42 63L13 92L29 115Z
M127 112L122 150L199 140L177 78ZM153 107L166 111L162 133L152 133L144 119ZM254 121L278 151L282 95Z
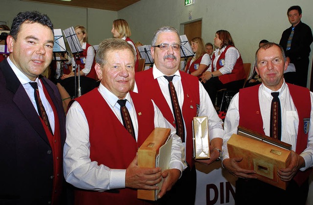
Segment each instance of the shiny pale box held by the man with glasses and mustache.
M194 158L210 159L210 140L207 116L194 117L192 124L194 136Z

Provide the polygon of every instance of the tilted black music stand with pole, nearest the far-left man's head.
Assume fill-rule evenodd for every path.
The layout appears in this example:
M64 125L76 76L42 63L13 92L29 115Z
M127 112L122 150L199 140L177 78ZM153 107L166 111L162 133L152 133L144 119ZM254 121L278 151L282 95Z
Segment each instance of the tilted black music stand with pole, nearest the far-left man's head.
M72 54L74 55L74 60L75 60L75 62L74 62L75 66L73 66L73 68L75 70L74 71L74 77L75 77L75 80L74 80L74 84L75 84L74 97L78 97L81 95L81 93L80 93L80 75L78 75L78 92L79 92L78 94L76 92L77 91L77 89L76 89L77 88L76 75L77 75L77 71L79 72L80 70L76 66L76 59L78 58L78 54L83 52L83 48L79 43L78 37L75 33L73 26L63 30L63 33L67 39L68 46L69 46Z

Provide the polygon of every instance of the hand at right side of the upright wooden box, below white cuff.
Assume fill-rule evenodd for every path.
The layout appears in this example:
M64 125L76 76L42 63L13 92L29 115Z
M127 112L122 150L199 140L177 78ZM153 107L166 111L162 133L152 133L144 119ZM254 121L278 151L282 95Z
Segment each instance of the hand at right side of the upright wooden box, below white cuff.
M161 190L157 194L158 199L164 196L167 191L171 190L172 186L178 181L179 176L179 169L167 169L162 172L163 183Z

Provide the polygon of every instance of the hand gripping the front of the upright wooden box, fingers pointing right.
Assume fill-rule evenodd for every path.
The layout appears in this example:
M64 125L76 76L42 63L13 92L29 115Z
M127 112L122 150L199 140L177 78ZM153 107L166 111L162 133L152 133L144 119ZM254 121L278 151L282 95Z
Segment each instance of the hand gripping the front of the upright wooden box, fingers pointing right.
M140 168L137 165L138 157L126 169L125 186L136 189L156 190L157 183L161 182L161 168Z

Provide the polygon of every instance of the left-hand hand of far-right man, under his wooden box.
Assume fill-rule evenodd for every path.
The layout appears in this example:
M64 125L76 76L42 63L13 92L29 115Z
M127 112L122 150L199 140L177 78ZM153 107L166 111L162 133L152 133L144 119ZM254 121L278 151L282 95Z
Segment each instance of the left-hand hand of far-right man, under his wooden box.
M229 173L234 175L235 177L244 179L257 179L256 176L251 175L256 173L254 170L243 169L239 166L238 163L242 160L242 157L224 159L223 165L229 171Z

